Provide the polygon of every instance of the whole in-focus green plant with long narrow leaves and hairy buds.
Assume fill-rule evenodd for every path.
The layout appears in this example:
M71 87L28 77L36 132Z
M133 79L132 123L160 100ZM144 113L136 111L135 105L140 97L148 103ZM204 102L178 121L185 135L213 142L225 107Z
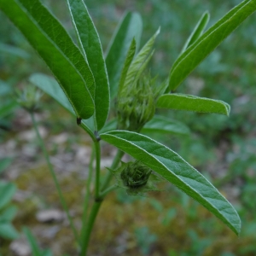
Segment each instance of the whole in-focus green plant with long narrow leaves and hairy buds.
M148 179L153 175L161 177L200 202L238 234L241 224L236 210L207 181L207 178L170 148L140 132L144 129L154 132L167 130L182 134L188 132L184 125L174 120L155 118L155 108L229 115L230 106L225 102L174 91L224 38L255 11L256 1L241 2L207 32L204 32L204 28L209 16L205 13L184 44L182 53L172 65L168 78L162 83L158 83L156 78L151 78L150 73L145 71L154 54L153 44L159 31L137 53L142 32L141 19L137 14L127 13L104 58L96 27L84 2L67 0L67 6L79 39L79 48L38 0L0 0L0 8L37 49L61 88L55 79L43 74L33 74L30 78L31 83L53 96L64 108L73 113L77 117L78 125L87 131L94 143L92 160L96 158L95 202L88 215L88 188L93 170L91 165L80 236L77 236L73 229L80 254L86 254L90 232L102 201L117 187L115 184L110 185L112 172L119 170L119 161L125 153L136 160L136 165L141 165L134 170L133 164L127 164L125 168L131 170L123 175L125 180L121 176L124 186L128 186L132 194L137 193L134 191L137 188L144 189ZM169 91L172 93L168 93ZM117 117L109 119L105 125L110 112L109 106L113 107L115 98ZM112 115L113 113L109 116ZM115 130L116 127L119 130ZM110 168L112 171L104 181L100 172L101 141L119 148ZM48 158L47 153L45 156ZM134 174L136 178L133 177ZM140 181L140 177L143 180ZM58 186L57 181L55 183Z

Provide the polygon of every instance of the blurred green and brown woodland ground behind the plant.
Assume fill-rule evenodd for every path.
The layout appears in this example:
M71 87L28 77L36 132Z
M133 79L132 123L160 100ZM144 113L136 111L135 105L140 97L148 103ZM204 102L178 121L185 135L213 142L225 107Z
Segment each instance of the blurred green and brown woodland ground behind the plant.
M65 1L43 2L75 40ZM240 2L85 1L103 49L107 49L125 10L142 15L141 45L161 27L150 63L151 73L158 74L159 81L166 79L173 61L204 11L208 10L211 15L209 27ZM177 89L177 92L228 102L230 117L165 111L162 113L188 125L190 135L153 136L207 176L236 207L241 217L241 236L237 237L171 184L165 185L165 191L150 197L131 197L119 189L108 195L102 205L89 255L256 255L255 20L254 14L243 22ZM11 203L17 209L13 225L19 232L22 226L28 226L40 247L50 248L54 255L76 255L72 232L61 214L61 204L32 129L32 121L15 102L14 96L17 88L28 84L27 79L32 73L50 73L3 13L0 23L0 179L16 186ZM36 119L79 227L90 138L49 96L41 98ZM102 154L102 166L108 166L113 158L113 148L103 145ZM106 170L102 172L107 173ZM54 210L58 218L40 218L49 209ZM25 237L18 238L15 230L9 236L0 230L0 253L29 255Z

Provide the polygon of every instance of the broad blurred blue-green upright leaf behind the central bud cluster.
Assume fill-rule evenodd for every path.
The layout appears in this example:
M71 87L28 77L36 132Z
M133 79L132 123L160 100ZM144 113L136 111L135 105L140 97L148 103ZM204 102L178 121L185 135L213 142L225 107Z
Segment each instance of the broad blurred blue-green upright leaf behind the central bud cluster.
M143 31L143 21L139 14L128 12L120 21L118 28L107 49L106 65L110 85L111 99L117 94L119 79L124 66L125 57L132 38L135 38L137 47Z

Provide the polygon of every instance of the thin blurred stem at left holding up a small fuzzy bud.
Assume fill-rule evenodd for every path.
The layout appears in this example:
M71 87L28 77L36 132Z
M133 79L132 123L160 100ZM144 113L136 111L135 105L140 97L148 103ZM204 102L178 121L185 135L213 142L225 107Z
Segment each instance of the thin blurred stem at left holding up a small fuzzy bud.
M40 136L40 133L39 133L39 131L38 131L38 125L37 125L37 122L36 122L36 120L35 120L34 114L33 114L32 112L30 112L30 115L31 115L31 118L32 118L32 124L33 124L33 126L34 126L34 129L35 129L36 134L37 134L37 137L38 137L38 141L39 141L39 143L40 143L40 147L42 148L42 150L43 150L43 152L44 152L44 158L45 158L45 160L46 160L46 162L47 162L47 165L48 165L48 167L49 167L49 172L50 172L50 174L51 174L51 176L52 176L52 178L53 178L53 180L54 180L55 188L56 188L57 191L58 191L58 195L59 195L59 197L60 197L61 205L62 205L63 209L65 210L65 212L66 212L66 214L67 214L67 218L68 218L69 224L70 224L70 226L71 226L71 228L72 228L72 230L73 230L73 235L74 235L76 241L79 243L79 235L78 235L78 232L77 232L77 230L75 229L75 226L74 226L74 224L73 224L73 219L71 218L71 215L70 215L70 213L69 213L69 211L68 211L67 203L66 203L66 201L65 201L65 199L64 199L64 196L62 195L60 184L59 184L59 182L58 182L58 180L57 180L57 177L56 177L56 175L55 175L55 171L54 171L54 169L53 169L53 166L52 166L51 163L50 163L49 154L48 154L48 152L47 152L47 150L46 150L46 147L45 147L45 145L44 145L43 138Z

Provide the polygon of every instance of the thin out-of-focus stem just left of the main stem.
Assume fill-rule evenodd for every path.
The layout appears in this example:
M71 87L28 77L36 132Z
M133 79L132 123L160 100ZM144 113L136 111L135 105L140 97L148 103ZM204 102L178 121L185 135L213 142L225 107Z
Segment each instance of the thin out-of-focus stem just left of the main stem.
M95 148L93 148L93 151L90 154L90 164L89 164L89 175L86 183L86 195L84 196L84 210L83 210L83 224L82 224L82 230L80 235L80 244L82 246L82 241L84 241L85 235L85 228L86 228L86 219L87 219L87 212L89 207L89 198L90 198L90 183L91 183L91 177L92 177L92 171L93 171L93 160L95 158Z

